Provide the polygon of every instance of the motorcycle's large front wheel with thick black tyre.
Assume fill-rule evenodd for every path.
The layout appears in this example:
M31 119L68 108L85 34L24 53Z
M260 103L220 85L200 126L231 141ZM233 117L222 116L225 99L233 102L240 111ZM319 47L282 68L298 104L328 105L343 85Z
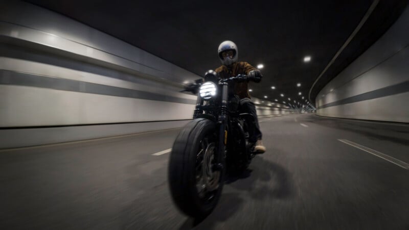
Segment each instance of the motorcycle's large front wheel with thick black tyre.
M217 154L215 122L198 118L177 136L169 160L169 187L176 206L192 217L209 215L223 187L224 171L214 170Z

